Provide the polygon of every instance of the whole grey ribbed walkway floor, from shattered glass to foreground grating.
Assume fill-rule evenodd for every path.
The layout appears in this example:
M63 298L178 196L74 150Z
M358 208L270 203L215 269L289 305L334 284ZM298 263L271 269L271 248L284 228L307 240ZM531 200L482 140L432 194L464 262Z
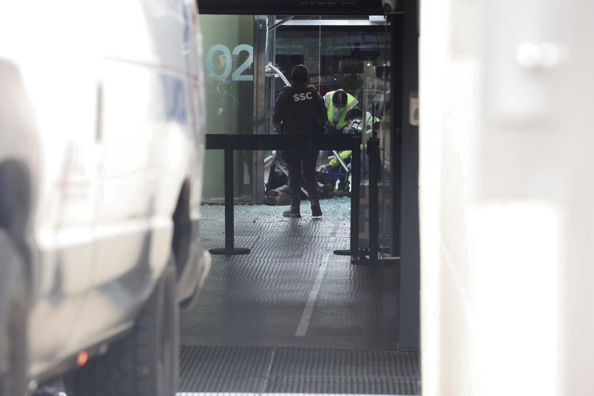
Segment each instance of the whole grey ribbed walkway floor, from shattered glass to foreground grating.
M321 220L235 207L235 246L252 251L213 256L181 312L178 396L419 394L418 352L398 347L399 269L333 255L349 246L336 204ZM225 246L224 208L203 209L204 246Z

